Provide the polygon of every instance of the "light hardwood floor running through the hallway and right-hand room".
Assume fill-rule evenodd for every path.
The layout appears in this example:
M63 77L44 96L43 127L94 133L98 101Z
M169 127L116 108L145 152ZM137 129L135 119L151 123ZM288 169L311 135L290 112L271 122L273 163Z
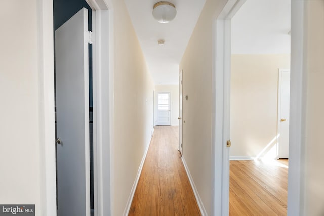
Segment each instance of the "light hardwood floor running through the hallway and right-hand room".
M155 128L129 215L201 215L181 161L178 127ZM286 215L288 160L230 161L229 215Z

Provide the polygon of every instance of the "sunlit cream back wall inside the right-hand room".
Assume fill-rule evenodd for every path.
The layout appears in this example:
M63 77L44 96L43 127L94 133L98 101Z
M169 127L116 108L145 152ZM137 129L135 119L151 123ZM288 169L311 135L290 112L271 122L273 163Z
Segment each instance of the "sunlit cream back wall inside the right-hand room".
M255 157L266 149L263 156L275 146L279 68L290 68L290 54L232 55L231 158Z

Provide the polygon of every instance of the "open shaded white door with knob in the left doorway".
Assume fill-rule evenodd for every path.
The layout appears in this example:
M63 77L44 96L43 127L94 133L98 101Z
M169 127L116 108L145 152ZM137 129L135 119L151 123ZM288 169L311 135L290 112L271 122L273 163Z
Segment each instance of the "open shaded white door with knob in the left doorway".
M90 215L88 10L55 31L59 216Z

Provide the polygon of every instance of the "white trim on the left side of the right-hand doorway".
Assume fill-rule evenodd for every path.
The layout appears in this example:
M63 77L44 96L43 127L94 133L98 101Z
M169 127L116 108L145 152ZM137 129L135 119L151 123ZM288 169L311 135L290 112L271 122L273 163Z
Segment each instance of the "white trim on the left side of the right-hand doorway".
M231 18L246 0L228 1L213 24L212 142L213 214L229 213Z

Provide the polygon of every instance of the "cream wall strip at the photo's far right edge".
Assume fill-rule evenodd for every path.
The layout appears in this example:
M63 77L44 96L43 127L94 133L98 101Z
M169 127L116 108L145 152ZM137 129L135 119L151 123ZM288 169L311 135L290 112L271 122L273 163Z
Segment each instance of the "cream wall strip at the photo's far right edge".
M305 116L304 215L324 215L324 1L306 2L307 104Z

